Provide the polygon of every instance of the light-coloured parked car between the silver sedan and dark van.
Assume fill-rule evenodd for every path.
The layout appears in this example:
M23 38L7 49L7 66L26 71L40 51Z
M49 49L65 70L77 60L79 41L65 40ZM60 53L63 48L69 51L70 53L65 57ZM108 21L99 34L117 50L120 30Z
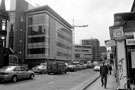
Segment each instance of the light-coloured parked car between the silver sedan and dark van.
M47 65L37 65L32 68L32 71L35 73L45 74L47 73Z

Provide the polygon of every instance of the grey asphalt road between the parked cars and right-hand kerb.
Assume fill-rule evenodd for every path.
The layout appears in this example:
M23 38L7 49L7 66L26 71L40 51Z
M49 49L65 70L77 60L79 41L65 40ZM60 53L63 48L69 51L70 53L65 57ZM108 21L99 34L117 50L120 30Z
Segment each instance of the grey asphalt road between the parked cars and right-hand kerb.
M80 83L96 75L96 73L99 72L86 69L59 75L36 75L33 80L0 83L0 90L72 90Z

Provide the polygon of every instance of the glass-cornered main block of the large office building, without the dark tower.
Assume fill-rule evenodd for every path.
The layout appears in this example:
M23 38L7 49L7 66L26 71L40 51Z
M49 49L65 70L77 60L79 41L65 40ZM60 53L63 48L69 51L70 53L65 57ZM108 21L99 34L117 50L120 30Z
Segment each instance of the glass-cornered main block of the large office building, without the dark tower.
M25 13L25 59L72 60L71 25L49 6L27 10Z

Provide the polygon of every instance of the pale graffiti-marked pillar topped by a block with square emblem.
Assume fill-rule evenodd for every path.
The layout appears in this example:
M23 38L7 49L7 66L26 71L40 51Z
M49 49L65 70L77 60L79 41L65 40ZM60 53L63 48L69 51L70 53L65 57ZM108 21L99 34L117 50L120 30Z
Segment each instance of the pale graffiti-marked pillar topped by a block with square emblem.
M126 48L125 48L125 34L123 32L123 26L113 26L112 38L113 40L106 42L107 46L116 46L117 53L117 79L119 82L119 88L124 88L127 82L127 65L126 65Z

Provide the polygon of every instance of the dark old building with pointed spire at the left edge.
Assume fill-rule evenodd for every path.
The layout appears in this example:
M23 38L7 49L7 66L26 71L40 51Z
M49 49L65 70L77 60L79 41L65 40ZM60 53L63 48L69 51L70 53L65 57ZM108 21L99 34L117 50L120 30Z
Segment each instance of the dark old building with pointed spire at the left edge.
M0 3L0 68L8 65L8 54L6 50L8 12L5 9L5 0Z

